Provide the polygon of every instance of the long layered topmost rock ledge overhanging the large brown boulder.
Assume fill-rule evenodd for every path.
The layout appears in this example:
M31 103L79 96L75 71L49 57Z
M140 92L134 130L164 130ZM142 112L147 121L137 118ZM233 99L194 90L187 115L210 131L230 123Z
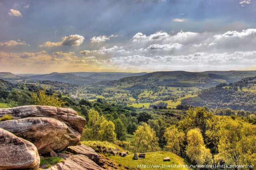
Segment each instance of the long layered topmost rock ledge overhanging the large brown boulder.
M51 117L64 122L67 126L78 131L81 135L84 132L86 120L84 117L77 116L77 112L68 107L38 106L27 105L15 108L0 109L0 117L6 114L13 116L13 119L26 117Z

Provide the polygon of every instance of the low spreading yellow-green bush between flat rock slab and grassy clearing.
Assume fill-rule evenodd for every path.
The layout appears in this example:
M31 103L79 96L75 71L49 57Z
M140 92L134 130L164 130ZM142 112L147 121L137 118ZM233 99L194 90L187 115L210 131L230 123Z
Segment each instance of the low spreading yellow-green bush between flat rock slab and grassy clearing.
M113 154L113 151L116 150L116 147L109 142L100 142L100 141L82 141L82 144L93 148L96 152L104 153L104 154Z

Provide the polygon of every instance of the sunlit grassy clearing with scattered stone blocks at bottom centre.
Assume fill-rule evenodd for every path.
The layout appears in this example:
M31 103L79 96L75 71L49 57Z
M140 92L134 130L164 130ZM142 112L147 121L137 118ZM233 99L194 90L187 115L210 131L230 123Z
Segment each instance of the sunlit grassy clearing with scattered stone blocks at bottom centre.
M178 155L175 155L171 152L167 151L159 151L159 152L147 152L146 157L143 159L134 160L133 159L134 154L128 154L126 157L120 157L120 156L108 156L107 158L110 158L112 161L114 161L116 164L121 165L120 167L127 166L129 169L161 169L161 170L170 170L170 167L161 167L164 165L190 165L188 162L186 162L183 158L179 157ZM163 159L169 157L170 161L164 162ZM159 165L158 168L142 168L140 165ZM173 167L171 169L174 170L186 170L187 168L182 167Z

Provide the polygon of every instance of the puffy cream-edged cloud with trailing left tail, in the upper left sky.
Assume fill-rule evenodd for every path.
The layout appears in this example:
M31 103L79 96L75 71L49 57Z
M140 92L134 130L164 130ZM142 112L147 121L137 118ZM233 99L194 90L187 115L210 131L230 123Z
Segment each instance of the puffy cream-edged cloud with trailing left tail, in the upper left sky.
M79 46L84 42L84 37L81 35L70 35L63 37L59 42L47 41L40 47L52 47L52 46Z

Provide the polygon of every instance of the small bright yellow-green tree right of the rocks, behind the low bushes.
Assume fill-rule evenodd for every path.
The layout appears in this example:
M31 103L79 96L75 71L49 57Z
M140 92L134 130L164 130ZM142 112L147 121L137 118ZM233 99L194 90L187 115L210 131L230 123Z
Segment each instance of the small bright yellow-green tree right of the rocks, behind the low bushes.
M104 120L99 127L98 139L101 141L114 142L116 140L115 124Z

